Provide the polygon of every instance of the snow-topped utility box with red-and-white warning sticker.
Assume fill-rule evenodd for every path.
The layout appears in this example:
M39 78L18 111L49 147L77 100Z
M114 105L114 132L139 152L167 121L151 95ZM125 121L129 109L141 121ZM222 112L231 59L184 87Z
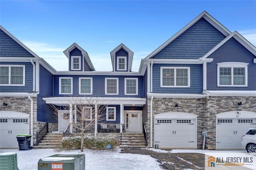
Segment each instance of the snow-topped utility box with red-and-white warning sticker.
M56 154L38 161L38 170L84 170L84 154Z

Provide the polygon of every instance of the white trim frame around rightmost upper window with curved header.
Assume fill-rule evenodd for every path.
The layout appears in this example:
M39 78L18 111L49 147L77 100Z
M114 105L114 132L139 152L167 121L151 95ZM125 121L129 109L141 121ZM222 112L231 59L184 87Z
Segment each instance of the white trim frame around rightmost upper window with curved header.
M217 63L217 86L218 87L247 87L248 86L248 63L244 62L221 62ZM220 68L231 68L231 85L220 85ZM234 67L244 68L245 84L234 85Z

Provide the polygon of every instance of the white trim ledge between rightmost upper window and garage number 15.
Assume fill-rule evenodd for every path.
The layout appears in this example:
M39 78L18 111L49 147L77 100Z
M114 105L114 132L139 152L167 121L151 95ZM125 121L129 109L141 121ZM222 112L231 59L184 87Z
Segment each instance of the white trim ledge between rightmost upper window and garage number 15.
M207 96L256 96L256 90L203 90Z

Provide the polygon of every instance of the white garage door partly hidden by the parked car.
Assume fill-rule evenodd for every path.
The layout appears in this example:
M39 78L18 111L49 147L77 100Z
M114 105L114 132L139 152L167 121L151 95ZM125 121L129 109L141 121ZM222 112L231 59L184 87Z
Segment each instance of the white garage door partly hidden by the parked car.
M216 149L243 149L242 135L246 134L249 128L256 127L256 113L248 115L248 113L238 111L233 114L217 117Z

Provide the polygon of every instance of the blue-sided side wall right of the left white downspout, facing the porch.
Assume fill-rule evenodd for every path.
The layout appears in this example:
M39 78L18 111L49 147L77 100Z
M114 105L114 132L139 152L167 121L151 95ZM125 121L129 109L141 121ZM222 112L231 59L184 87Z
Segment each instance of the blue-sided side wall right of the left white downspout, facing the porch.
M50 104L42 99L53 95L53 75L40 64L39 70L39 94L37 95L37 121L58 123L58 116Z

